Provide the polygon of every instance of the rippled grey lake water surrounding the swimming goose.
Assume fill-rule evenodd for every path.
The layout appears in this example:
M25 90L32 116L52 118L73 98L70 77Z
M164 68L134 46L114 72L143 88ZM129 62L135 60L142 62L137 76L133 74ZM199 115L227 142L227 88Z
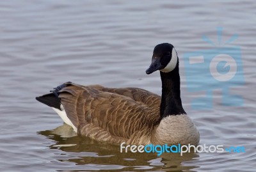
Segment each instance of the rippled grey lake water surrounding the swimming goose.
M0 171L255 171L255 9L253 1L1 1ZM223 42L238 35L230 45L241 48L244 83L230 91L244 104L223 106L216 89L212 109L193 109L204 90L188 91L183 54L213 49L202 36L218 43L219 26ZM145 70L163 42L179 54L182 102L200 144L245 153L120 153L77 137L35 100L66 81L161 94L159 72Z

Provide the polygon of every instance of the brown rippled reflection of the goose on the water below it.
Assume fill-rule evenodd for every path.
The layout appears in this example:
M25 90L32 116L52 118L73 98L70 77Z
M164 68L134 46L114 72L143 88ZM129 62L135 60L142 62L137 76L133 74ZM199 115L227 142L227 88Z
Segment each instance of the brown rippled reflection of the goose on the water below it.
M192 161L199 157L198 153L184 153L182 156L179 153L163 153L159 157L157 153L120 153L120 145L77 136L67 124L53 130L40 131L38 134L54 141L54 144L49 144L47 147L60 150L60 156L56 159L58 162L74 163L84 171L94 169L194 171L198 168L191 165ZM186 162L189 162L189 165L186 165Z

